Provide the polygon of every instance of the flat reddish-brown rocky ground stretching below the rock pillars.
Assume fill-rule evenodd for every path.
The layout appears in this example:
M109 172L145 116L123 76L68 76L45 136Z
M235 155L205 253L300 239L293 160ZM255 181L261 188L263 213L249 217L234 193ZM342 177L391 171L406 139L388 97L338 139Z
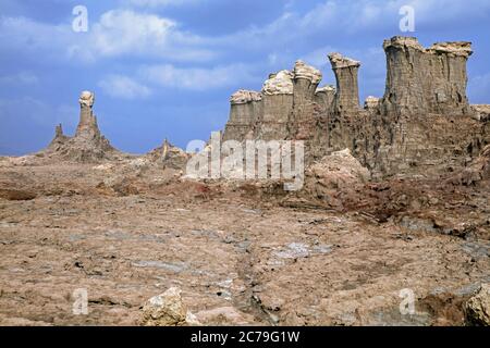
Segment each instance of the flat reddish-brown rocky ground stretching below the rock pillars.
M285 195L145 158L3 158L0 325L136 325L171 287L205 325L464 325L490 282L479 161L437 182L311 167ZM78 288L88 315L72 312ZM403 315L405 288L416 312Z

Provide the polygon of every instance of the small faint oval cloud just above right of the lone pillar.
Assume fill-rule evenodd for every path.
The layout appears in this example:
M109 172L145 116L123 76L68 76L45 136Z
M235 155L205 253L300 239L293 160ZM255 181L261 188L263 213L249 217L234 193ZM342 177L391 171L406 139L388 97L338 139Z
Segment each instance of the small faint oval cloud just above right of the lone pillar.
M152 91L145 85L122 75L109 75L99 82L99 87L113 98L139 99L151 96Z

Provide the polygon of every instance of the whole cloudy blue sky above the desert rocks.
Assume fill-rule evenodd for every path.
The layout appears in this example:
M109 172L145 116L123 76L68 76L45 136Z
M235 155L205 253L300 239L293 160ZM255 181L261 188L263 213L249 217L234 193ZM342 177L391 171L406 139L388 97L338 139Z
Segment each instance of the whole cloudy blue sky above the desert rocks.
M414 32L400 28L404 5ZM186 148L224 127L234 91L298 59L334 85L335 51L362 62L360 100L382 97L382 42L395 35L471 41L468 97L490 103L488 0L0 0L0 154L45 148L59 123L73 134L83 90L117 148Z

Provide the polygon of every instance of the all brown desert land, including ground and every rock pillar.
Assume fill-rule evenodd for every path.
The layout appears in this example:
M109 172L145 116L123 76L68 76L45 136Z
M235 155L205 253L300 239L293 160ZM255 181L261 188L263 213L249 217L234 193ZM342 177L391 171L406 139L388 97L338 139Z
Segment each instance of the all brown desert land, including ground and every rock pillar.
M168 140L124 153L82 92L74 136L0 158L0 325L488 325L490 105L465 96L470 44L384 49L385 95L364 108L360 63L339 53L336 87L298 61L232 96L223 141L305 142L293 191L189 176L197 154Z

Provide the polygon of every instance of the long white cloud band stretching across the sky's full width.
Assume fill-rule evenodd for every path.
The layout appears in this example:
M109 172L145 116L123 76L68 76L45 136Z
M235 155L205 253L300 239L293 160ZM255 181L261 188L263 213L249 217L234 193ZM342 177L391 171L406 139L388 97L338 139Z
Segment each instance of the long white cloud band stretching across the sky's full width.
M142 7L173 5L196 0L125 0ZM119 57L157 58L174 62L209 62L222 52L248 50L270 52L302 42L309 35L324 33L326 38L358 35L392 27L397 33L399 9L415 8L416 27L426 23L451 24L461 16L480 17L490 10L488 1L394 0L380 2L324 1L301 14L286 7L271 23L228 35L206 37L182 29L180 23L158 14L115 9L90 23L89 32L77 34L71 23L49 25L25 17L0 17L2 48L42 51L50 57L96 62ZM342 28L342 33L339 33ZM403 33L400 33L401 35Z

